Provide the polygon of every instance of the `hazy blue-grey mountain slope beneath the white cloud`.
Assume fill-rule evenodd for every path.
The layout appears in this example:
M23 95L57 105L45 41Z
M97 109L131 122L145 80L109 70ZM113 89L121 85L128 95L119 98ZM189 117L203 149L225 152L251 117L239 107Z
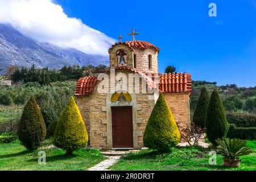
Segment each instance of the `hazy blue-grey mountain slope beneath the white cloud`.
M0 75L10 65L18 67L56 68L64 65L109 64L109 58L88 55L72 48L60 48L49 43L39 43L27 38L7 24L0 24Z

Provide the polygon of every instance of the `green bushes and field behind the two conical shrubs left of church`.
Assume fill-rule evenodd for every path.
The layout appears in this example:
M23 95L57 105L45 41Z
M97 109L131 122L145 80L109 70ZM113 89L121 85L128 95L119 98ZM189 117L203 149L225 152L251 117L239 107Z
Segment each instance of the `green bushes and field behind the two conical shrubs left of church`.
M0 134L17 130L24 105L31 96L38 103L51 136L69 98L74 94L75 81L52 82L40 85L28 82L23 85L0 86Z

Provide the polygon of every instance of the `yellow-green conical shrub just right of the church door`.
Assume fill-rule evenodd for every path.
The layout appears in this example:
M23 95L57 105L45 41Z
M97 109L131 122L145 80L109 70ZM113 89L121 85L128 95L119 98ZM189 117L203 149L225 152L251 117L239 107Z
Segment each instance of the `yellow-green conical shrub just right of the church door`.
M144 131L144 146L168 152L179 142L179 129L163 94L160 94Z

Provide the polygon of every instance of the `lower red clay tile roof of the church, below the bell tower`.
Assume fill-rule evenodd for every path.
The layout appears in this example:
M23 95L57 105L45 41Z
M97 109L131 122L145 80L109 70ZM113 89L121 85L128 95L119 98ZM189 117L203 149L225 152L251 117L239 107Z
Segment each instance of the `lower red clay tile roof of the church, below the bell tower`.
M133 73L138 73L142 75L147 84L151 87L155 87L155 77L148 77L147 74L137 71L137 69L133 67L117 67L118 70L127 70ZM162 93L181 93L181 92L191 92L191 74L187 73L156 73L159 75L159 91ZM97 77L95 76L87 76L84 78L80 78L76 84L76 92L75 96L86 96L93 92L95 86L97 84Z

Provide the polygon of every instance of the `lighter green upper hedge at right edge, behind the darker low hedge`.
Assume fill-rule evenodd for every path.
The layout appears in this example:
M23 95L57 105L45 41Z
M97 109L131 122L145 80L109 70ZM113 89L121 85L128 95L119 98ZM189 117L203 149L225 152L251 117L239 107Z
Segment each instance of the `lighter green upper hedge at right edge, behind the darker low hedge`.
M226 119L236 127L256 127L256 114L226 113Z

